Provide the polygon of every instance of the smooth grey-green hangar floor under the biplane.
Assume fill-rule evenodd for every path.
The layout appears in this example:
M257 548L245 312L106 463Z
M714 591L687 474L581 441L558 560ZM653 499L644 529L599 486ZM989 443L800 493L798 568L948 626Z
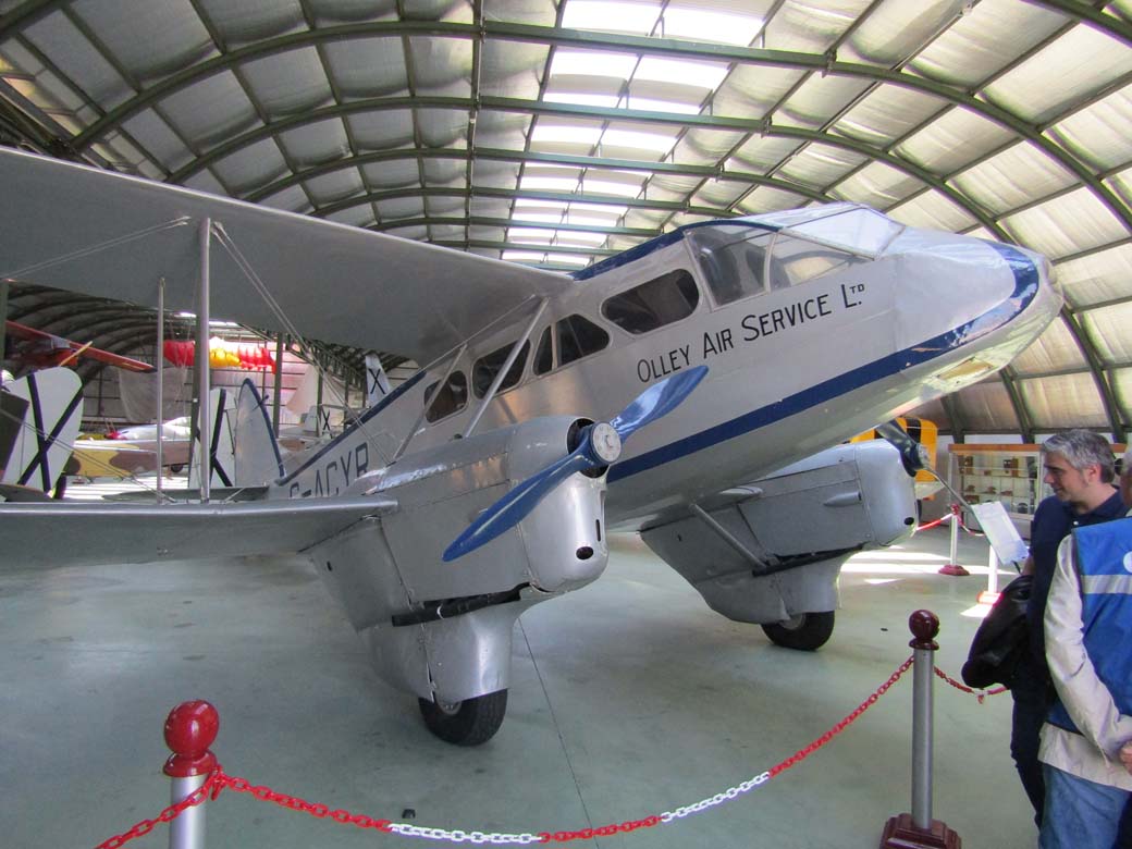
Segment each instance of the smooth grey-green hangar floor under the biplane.
M199 561L0 575L0 844L84 847L168 804L170 707L207 698L230 774L375 817L465 831L638 820L770 769L854 710L910 653L908 615L943 623L958 677L979 619L970 577L936 574L947 531L859 555L820 652L773 646L713 614L635 539L593 585L515 632L508 717L487 745L448 746L381 684L312 572ZM1009 576L1003 575L1004 580ZM936 681L935 806L968 849L1034 847L1007 739L1010 696L980 705ZM718 808L600 847L877 847L909 809L911 676L827 747ZM404 812L411 808L413 818ZM166 846L165 826L130 843ZM411 846L225 792L209 847Z

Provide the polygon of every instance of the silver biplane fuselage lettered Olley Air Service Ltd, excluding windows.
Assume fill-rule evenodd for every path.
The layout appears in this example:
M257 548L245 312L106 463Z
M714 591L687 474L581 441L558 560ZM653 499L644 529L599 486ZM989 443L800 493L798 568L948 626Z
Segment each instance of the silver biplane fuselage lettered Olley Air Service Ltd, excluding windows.
M700 289L691 315L640 335L603 318L608 298L676 268ZM687 231L580 275L535 323L531 346L573 314L600 325L608 346L541 376L528 357L522 379L490 401L475 432L541 415L607 419L645 386L706 365L694 396L635 436L609 471L609 524L640 528L986 377L1028 346L1062 302L1040 256L914 228L867 261L726 305L713 300L706 275ZM455 369L470 375L483 354L518 338L532 314L533 305L474 340ZM474 396L447 418L420 422L427 387L449 365L451 358L420 372L305 457L276 496L345 491L396 456L418 424L410 453L461 435L477 410Z

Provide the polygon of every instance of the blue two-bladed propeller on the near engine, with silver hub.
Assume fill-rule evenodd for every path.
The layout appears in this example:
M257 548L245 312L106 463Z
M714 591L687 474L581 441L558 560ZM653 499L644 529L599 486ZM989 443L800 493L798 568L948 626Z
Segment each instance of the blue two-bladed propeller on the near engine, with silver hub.
M707 374L706 366L679 371L642 392L609 423L590 424L581 444L561 460L532 474L488 507L444 551L449 563L517 525L550 491L575 472L610 465L621 445L641 428L678 408Z

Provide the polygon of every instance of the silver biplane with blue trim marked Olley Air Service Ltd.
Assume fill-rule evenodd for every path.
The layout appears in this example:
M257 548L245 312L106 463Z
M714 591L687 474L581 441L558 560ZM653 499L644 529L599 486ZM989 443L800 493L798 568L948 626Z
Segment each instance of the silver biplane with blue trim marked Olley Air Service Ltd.
M232 488L6 505L0 558L305 552L379 675L465 745L503 720L515 619L597 578L612 530L724 616L821 645L842 560L915 522L915 460L839 443L1001 368L1061 307L1036 254L847 203L560 275L19 153L0 181L6 276L144 305L164 277L169 309L422 366L288 471L248 384L215 457Z

